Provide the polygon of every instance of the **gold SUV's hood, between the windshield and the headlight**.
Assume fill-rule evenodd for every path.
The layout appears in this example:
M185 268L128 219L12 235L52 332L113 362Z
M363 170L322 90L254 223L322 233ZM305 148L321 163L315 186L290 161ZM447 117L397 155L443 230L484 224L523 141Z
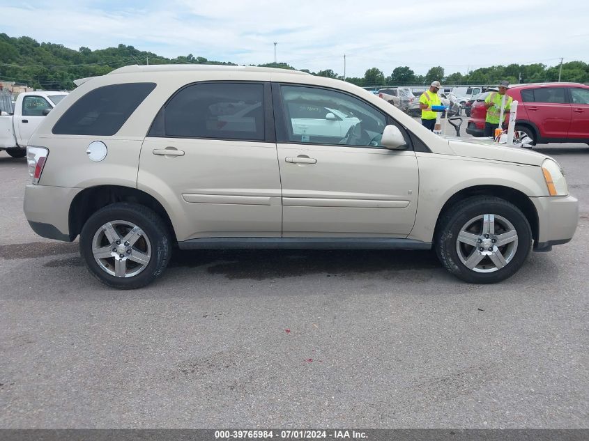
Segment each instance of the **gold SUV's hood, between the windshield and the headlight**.
M457 156L475 157L482 160L495 160L542 166L542 162L548 157L542 153L526 150L521 147L510 147L496 144L490 139L484 141L461 141L459 138L448 139L448 145Z

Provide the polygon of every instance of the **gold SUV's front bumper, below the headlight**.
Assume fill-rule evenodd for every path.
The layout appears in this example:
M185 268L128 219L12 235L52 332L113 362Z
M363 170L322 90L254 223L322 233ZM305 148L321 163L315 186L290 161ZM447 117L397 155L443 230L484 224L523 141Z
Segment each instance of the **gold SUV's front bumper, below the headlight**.
M573 196L530 198L538 213L538 238L535 251L549 251L572 239L579 222L579 201Z

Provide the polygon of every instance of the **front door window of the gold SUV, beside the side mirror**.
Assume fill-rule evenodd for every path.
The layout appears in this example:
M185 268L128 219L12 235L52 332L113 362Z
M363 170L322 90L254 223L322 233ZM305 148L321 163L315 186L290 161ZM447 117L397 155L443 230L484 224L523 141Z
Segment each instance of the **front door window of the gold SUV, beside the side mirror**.
M323 88L281 86L280 91L286 141L381 146L386 117L366 102ZM311 114L313 118L301 118Z

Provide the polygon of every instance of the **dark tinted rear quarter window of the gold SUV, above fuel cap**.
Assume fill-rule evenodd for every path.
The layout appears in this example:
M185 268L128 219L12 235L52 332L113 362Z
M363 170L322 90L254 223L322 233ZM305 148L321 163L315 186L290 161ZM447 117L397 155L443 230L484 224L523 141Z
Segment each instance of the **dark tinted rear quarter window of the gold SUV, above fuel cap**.
M102 86L79 98L54 125L54 134L111 136L118 132L155 83Z

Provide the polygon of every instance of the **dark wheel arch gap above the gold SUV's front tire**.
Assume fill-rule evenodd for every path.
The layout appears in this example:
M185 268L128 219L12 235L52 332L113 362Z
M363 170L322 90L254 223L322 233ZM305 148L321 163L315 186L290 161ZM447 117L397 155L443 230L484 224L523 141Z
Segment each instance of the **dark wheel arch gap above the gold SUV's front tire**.
M436 234L438 233L438 229L440 228L440 221L445 213L460 201L463 201L464 199L470 198L472 196L496 196L514 204L514 206L523 212L523 215L526 216L526 219L528 219L530 229L532 229L533 239L535 241L538 240L540 220L538 219L538 212L533 202L530 201L530 198L523 192L520 192L519 190L511 187L503 187L501 185L476 185L473 187L466 187L450 196L450 198L445 201L442 209L438 213L438 219L436 219L436 227L434 229L434 237L436 237Z

